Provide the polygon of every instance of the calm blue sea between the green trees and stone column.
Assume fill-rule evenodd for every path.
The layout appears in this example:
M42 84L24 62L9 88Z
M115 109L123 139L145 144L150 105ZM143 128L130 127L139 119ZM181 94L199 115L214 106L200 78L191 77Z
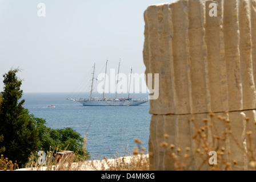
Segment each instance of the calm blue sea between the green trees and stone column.
M93 93L94 97L102 97ZM74 98L75 97L75 98ZM89 93L23 93L23 107L35 117L46 120L51 129L71 127L81 137L86 136L86 150L91 159L114 158L132 154L134 139L148 152L149 102L138 106L83 106L67 98L90 97ZM113 98L115 94L106 95ZM118 98L127 97L119 94ZM148 98L147 93L134 93L131 97ZM55 107L47 107L54 105Z

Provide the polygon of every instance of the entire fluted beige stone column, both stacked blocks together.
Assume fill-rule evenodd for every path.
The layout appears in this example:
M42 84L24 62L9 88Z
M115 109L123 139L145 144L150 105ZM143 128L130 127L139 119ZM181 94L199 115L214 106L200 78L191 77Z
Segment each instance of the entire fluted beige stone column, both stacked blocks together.
M209 15L211 3L217 16ZM150 100L149 111L152 168L174 169L161 146L166 141L181 151L191 148L191 167L198 169L202 159L195 156L193 136L208 126L206 140L214 146L214 124L219 135L226 133L217 147L225 148L225 160L237 162L233 169L247 169L246 132L256 129L256 2L182 0L151 5L144 18L145 73L159 73L159 97Z

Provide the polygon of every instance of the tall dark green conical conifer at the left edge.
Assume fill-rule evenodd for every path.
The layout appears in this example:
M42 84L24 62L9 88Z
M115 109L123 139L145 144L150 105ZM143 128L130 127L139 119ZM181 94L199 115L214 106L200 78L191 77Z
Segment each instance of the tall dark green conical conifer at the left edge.
M5 147L3 155L10 160L17 160L18 164L25 164L31 152L38 148L38 132L36 122L29 111L22 105L21 100L22 80L16 76L19 69L11 69L3 75L3 88L1 113L0 113L0 135L2 135L2 147ZM0 146L0 148L1 148Z

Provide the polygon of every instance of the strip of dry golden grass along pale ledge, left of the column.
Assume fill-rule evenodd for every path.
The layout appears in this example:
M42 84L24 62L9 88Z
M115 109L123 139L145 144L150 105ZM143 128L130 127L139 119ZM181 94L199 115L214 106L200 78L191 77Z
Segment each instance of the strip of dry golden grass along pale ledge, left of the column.
M38 164L38 156L31 155L29 162L26 164L26 170L29 171L148 171L149 157L145 154L146 148L141 147L139 139L134 140L137 147L134 148L133 155L121 156L107 159L104 156L103 160L87 160L86 158L78 157L77 155L62 156L59 160L54 155L54 152L48 152L46 163ZM86 138L83 149L85 150ZM58 162L57 162L58 161ZM21 169L25 170L25 169Z

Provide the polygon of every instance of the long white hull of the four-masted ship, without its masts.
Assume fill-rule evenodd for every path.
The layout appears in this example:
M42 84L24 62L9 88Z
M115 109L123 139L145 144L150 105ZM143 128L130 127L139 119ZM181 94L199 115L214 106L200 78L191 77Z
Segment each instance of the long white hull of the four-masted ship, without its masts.
M80 99L83 106L138 106L148 102L146 100L86 100Z

